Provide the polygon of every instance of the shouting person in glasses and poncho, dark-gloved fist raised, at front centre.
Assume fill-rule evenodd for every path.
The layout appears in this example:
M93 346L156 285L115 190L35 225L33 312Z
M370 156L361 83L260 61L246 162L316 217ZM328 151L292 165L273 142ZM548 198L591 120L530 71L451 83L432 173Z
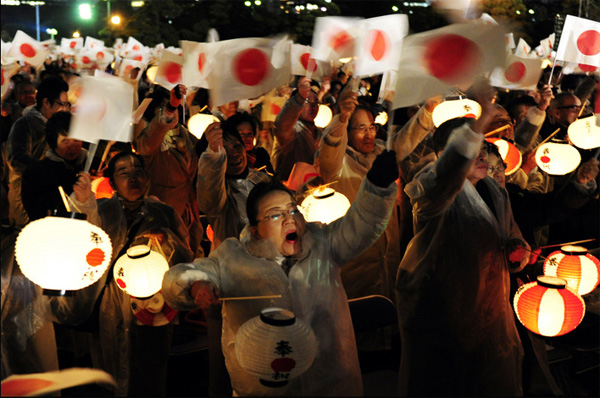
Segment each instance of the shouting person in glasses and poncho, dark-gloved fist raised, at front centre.
M208 258L170 269L162 292L185 310L223 305L222 347L234 395L361 395L362 381L347 296L339 267L372 245L385 230L395 203L396 154L373 162L346 215L331 224L306 223L293 193L278 182L258 184L248 195L249 224ZM280 298L251 299L248 296ZM256 298L256 297L255 297ZM265 307L292 311L318 340L308 371L286 387L262 385L241 368L235 335Z

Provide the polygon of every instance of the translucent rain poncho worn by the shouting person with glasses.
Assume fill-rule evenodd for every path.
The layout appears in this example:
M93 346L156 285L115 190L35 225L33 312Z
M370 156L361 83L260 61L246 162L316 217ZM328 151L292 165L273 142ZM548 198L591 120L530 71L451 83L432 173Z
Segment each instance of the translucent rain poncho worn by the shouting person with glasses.
M362 394L362 379L352 320L341 284L341 264L373 244L385 230L395 201L396 184L379 188L363 182L345 217L329 225L308 223L302 250L289 276L281 268L283 257L269 240L230 238L208 258L171 268L163 280L167 302L180 310L193 309L190 295L198 280L214 283L222 297L281 295L279 299L225 302L222 347L234 394L337 395ZM306 373L283 388L262 386L258 378L240 368L235 356L239 327L266 307L291 310L308 324L318 340L318 353Z

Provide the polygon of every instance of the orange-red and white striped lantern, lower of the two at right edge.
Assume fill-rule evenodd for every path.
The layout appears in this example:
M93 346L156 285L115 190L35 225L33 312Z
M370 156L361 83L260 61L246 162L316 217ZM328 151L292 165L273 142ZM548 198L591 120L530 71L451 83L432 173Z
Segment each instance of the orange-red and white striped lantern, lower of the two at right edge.
M538 276L517 290L513 302L519 321L542 336L562 336L574 330L585 315L581 296L564 279Z

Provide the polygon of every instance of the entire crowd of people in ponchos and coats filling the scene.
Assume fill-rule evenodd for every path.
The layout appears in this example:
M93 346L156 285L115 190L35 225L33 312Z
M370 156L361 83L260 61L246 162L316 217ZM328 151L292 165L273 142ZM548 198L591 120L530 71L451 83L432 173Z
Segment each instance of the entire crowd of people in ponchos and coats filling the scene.
M561 394L543 341L518 324L511 300L539 272L540 248L599 236L595 150L578 148L581 164L564 176L535 163L543 140L568 142L568 126L593 114L597 74L557 67L554 85L540 80L533 91L478 79L466 95L481 116L436 128L441 96L376 123L389 105L377 102L380 77L356 89L351 69L321 82L290 76L245 109L214 106L205 89L155 86L139 71L129 81L140 102L151 101L131 142L111 143L106 167L88 172L86 143L68 134L76 73L56 62L44 69L21 67L2 97L3 379L57 370L57 350L67 347L111 374L116 396L165 395L173 334L187 326L209 336L211 395L361 395L358 350L393 336L401 396L532 394L527 367L543 375L541 394ZM283 98L274 120L264 117L267 97ZM315 125L320 105L334 115L325 128ZM201 138L183 123L196 112L219 119ZM519 170L505 175L490 132L517 146ZM93 192L98 178L110 198ZM307 223L302 201L322 184L351 207L330 224ZM153 299L176 317L160 325L138 317L143 300L118 287L112 268L73 297L43 296L24 278L16 237L67 213L59 187L110 236L112 264L141 241L158 242L171 268ZM395 304L398 325L357 338L348 299L369 295ZM279 298L220 300L246 296ZM265 307L291 310L318 341L312 366L283 389L259 383L235 354L237 330Z

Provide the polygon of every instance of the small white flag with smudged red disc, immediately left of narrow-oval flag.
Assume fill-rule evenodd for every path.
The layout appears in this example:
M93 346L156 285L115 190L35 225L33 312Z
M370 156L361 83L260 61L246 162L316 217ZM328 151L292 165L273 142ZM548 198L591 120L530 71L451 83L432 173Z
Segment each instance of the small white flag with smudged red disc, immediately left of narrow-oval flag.
M318 17L312 41L312 56L320 61L336 61L354 56L359 35L359 18Z

